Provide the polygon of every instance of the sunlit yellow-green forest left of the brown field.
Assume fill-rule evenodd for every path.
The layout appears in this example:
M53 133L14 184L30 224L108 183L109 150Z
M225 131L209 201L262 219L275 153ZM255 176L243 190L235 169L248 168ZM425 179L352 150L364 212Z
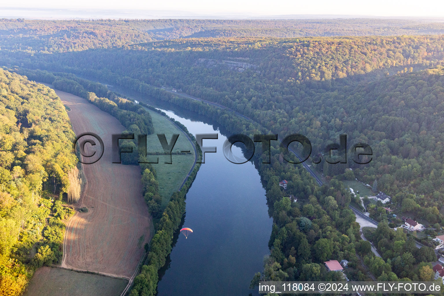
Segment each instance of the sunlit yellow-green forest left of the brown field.
M61 260L75 135L53 90L3 69L0 117L0 294L18 296L36 268Z

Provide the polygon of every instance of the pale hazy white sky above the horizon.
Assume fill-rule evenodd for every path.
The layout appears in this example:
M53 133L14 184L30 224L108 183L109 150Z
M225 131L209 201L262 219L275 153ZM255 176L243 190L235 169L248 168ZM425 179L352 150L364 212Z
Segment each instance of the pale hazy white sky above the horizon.
M0 7L173 10L198 14L442 16L443 0L0 0Z

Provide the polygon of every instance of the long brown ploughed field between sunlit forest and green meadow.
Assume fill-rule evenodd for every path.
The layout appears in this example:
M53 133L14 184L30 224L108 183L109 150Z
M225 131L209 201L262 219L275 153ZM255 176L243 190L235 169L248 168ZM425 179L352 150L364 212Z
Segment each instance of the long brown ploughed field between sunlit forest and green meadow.
M79 201L87 213L76 213L66 229L62 267L131 278L151 237L151 216L142 197L140 167L111 163L111 134L125 130L120 122L86 99L56 91L75 134L93 132L104 143L102 158L83 165L87 184Z

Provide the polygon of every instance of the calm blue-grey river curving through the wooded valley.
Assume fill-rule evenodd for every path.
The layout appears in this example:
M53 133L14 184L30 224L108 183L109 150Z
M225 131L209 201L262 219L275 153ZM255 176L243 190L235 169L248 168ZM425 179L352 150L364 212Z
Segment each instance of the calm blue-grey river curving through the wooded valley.
M204 146L216 146L217 153L206 153L186 194L183 227L193 233L187 239L178 237L161 272L158 295L258 295L249 285L254 273L262 271L263 257L270 254L273 222L254 164L233 164L225 158L222 145L228 133L210 119L139 93L110 89L163 110L191 134L219 134L217 140L203 141ZM232 151L242 156L239 147Z

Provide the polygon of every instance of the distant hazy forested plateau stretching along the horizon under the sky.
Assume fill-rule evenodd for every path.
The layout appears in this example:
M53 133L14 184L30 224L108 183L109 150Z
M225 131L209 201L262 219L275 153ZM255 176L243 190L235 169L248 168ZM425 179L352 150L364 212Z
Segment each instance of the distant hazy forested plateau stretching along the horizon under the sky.
M67 52L192 37L395 36L444 34L433 20L8 20L0 19L0 48Z

